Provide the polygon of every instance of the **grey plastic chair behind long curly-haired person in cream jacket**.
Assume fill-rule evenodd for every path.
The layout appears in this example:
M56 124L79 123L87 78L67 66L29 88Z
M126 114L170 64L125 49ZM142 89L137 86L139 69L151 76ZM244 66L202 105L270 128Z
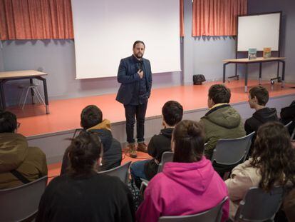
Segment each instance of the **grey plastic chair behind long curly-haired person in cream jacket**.
M275 187L269 193L262 188L249 188L234 216L234 221L274 221L284 197L284 188Z

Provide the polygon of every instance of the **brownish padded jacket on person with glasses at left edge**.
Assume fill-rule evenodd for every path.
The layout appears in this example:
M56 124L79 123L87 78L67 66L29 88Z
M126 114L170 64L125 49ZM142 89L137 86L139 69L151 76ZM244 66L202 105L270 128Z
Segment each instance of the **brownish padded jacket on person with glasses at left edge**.
M46 156L37 147L29 147L26 137L18 133L0 133L0 189L21 186L10 171L19 171L29 181L46 176Z

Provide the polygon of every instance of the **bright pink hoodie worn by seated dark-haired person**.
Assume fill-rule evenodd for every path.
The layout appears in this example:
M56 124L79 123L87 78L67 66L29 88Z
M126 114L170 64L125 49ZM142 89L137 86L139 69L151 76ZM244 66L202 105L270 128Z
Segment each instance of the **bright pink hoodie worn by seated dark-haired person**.
M227 186L204 156L195 163L165 163L145 189L137 221L157 222L160 216L181 216L207 211L227 196ZM224 203L222 221L229 216Z

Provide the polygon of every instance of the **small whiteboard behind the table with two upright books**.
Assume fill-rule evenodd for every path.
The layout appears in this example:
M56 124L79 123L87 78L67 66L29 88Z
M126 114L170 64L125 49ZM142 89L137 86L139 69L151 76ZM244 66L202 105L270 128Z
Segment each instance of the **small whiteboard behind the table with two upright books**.
M263 51L279 51L279 29L281 13L238 17L237 51L256 48Z

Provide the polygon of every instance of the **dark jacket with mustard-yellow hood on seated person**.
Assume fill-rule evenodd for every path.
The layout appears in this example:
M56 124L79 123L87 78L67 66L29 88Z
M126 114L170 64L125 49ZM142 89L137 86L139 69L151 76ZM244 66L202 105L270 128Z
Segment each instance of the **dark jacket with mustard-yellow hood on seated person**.
M116 166L120 166L122 161L122 148L119 141L113 138L110 131L110 121L104 119L98 125L88 128L86 131L98 133L101 143L103 143L103 161L100 166L100 171L107 171ZM63 163L61 165L61 175L66 173L68 168L68 149L66 149L63 155Z

